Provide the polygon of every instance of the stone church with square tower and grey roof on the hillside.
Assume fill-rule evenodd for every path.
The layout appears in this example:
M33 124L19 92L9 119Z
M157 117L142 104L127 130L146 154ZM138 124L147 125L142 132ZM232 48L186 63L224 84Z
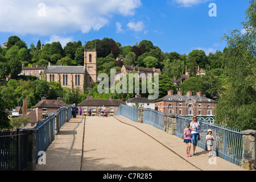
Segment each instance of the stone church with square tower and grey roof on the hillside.
M44 76L43 76L44 75ZM87 49L85 43L84 66L53 66L49 63L40 78L46 81L60 82L61 86L67 88L79 87L81 91L85 87L92 88L97 82L97 52L95 49Z

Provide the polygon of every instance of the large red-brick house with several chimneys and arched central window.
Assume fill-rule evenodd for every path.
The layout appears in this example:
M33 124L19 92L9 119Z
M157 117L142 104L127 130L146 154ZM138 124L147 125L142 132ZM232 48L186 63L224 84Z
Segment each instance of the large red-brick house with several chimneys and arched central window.
M163 113L176 113L180 115L215 115L216 101L202 96L201 92L197 92L195 96L192 91L183 95L181 91L174 94L173 90L168 92L167 96L159 98L155 101L155 109Z

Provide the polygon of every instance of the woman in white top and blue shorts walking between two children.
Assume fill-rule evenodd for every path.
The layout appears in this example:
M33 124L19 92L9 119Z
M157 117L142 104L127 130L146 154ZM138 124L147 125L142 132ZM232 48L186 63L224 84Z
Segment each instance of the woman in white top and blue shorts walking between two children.
M196 154L196 146L197 146L197 140L199 137L199 130L200 130L200 123L197 122L196 115L193 116L192 122L190 123L190 129L191 131L191 139L193 143L193 155Z

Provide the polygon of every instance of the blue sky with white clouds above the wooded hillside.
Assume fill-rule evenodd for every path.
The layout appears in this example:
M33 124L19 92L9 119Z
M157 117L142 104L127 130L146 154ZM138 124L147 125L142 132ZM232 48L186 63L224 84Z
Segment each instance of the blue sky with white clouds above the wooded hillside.
M210 3L217 16L210 17ZM0 0L0 43L27 46L112 38L122 46L151 40L163 52L222 51L229 31L243 29L246 0Z

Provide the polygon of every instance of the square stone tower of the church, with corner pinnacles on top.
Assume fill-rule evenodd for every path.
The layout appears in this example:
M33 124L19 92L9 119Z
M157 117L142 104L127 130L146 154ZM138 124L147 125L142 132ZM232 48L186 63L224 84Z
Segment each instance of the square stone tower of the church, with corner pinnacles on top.
M96 44L94 49L87 49L86 42L84 48L84 69L85 69L85 86L92 88L92 84L97 82L97 52Z

